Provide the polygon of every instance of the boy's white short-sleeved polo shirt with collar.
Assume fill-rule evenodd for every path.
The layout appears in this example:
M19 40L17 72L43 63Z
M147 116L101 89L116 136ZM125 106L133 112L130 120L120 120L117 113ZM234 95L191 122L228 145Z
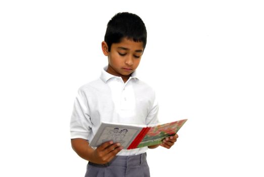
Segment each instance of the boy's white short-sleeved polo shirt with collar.
M135 72L123 79L105 70L100 78L80 87L70 123L71 139L93 139L100 122L132 124L157 123L157 104L153 89L136 77ZM137 155L147 147L122 150L118 155Z

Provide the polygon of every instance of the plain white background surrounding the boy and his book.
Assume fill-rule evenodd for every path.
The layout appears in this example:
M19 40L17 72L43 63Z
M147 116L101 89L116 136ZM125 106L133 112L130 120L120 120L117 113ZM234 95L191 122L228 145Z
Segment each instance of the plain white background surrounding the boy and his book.
M93 2L93 3L91 3ZM1 1L0 176L84 176L69 121L100 74L108 21L145 22L138 71L160 119L189 120L176 145L149 150L151 176L263 176L261 1Z

